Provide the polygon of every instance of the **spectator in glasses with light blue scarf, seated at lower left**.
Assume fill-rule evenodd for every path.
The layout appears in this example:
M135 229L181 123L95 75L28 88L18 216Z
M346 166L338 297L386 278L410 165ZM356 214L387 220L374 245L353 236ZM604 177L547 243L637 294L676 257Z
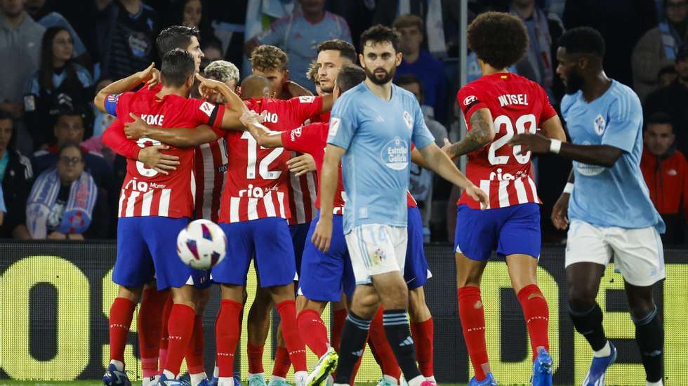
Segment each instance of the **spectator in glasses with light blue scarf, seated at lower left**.
M107 234L107 207L91 175L84 170L79 145L66 142L58 164L41 173L27 200L27 227L32 239L102 239Z

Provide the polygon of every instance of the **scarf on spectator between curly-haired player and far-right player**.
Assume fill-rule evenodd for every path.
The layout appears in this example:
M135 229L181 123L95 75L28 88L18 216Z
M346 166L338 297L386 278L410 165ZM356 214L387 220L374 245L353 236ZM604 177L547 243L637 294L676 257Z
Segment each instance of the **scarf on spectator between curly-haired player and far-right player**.
M511 8L510 11L513 15L517 15L520 18L513 8ZM525 22L525 20L523 21ZM551 58L552 53L550 51L552 37L550 36L550 26L548 24L547 15L537 7L533 10L533 24L535 25L534 34L540 52L534 53L534 51L531 51L532 47L528 48L527 58L535 76L535 79L531 80L536 81L545 88L549 88L552 86L552 81L554 80Z

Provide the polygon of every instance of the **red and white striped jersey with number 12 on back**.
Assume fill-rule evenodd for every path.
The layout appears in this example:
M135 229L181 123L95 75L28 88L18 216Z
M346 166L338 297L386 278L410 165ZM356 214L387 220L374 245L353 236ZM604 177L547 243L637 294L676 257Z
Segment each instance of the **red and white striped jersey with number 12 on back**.
M246 101L246 105L263 115L263 124L270 130L286 131L301 126L304 121L322 112L322 97L252 99ZM300 188L293 189L299 197L290 203L290 187L293 186L286 161L291 158L291 152L286 152L282 147L263 149L248 131L227 132L225 140L227 153L232 156L220 204L220 222L243 222L267 217L289 219L296 216L294 223L298 224L315 216L317 182L312 176L310 180L306 176L303 183L299 180L298 184L294 184Z

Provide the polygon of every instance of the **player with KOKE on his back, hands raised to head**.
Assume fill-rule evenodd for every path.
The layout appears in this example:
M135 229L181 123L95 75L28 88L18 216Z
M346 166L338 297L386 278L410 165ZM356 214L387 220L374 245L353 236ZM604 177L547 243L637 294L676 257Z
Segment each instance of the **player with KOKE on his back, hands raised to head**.
M151 71L152 65L146 73L117 81L112 88L131 89L142 80L147 80ZM242 128L236 117L246 107L225 84L202 79L201 86L223 93L225 100L232 104L232 110L227 114L224 106L186 98L194 84L194 74L194 58L177 48L163 58L162 88L159 93L126 92L109 95L105 100L96 98L94 102L126 121L131 120L131 114L138 115L150 124L163 126L192 128L209 124L214 128ZM110 139L108 135L103 138L106 144ZM138 145L145 147L151 142L154 143L143 138ZM201 284L207 278L206 272L192 269L176 258L176 243L170 239L171 235L178 234L187 225L194 204L191 186L193 152L185 149L170 151L180 158L180 166L168 175L147 168L133 159L127 160L127 176L119 199L118 258L113 272L113 280L120 287L110 310L112 358L104 377L106 384L126 379L121 360L126 335L143 284L150 281L153 274L158 290L171 288L174 302L168 322L168 358L159 382L161 385L186 384L175 378L179 375L194 328L198 293L192 284Z

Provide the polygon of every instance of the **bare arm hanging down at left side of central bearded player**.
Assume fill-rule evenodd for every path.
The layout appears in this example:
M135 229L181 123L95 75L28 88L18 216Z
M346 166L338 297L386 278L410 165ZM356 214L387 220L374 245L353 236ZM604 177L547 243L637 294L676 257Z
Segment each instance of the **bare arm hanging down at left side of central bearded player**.
M332 240L334 193L339 177L338 166L345 152L345 149L331 144L327 144L325 148L325 158L320 171L320 218L310 240L323 252L330 248L330 241Z

